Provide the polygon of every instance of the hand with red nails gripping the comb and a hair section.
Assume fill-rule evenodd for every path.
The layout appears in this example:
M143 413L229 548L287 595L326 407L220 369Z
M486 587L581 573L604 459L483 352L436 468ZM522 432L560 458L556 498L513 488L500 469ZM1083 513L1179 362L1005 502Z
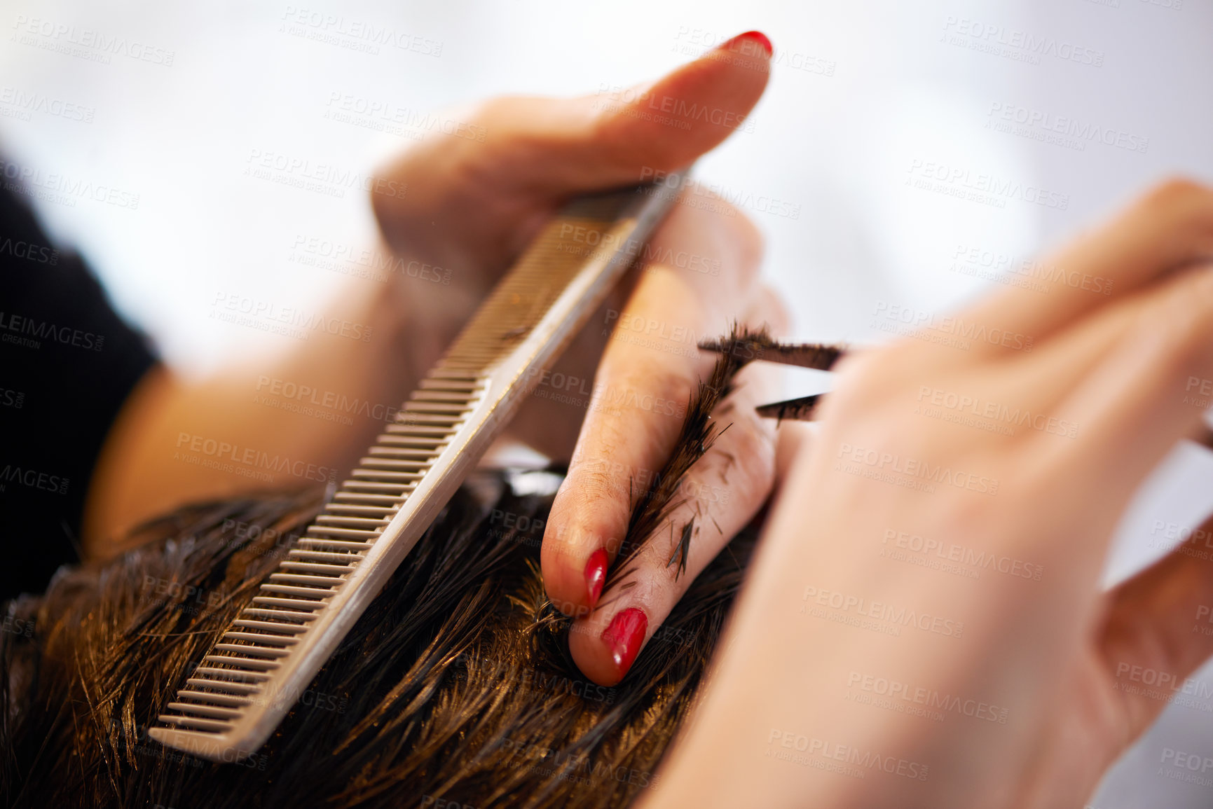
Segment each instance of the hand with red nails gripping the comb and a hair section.
M761 34L746 34L650 85L574 99L501 98L442 115L454 132L409 150L386 173L391 182L380 183L408 190L372 194L388 243L421 262L410 266L437 266L428 270L435 277L450 270L449 286L404 279L412 364L423 369L437 358L570 195L660 177L741 127L767 85L769 49ZM687 502L674 514L679 530L695 519L685 572L676 577L679 565L667 566L677 537L662 531L630 577L634 586L602 594L631 503L653 484L697 381L711 371L714 358L696 342L733 321L784 327L781 306L757 277L761 253L758 232L740 211L685 188L645 264L511 426L547 455L570 460L543 537L543 579L562 610L588 615L570 645L597 683L623 676L691 579L770 491L775 431L752 410L776 391L769 370L747 369L735 399L722 405L735 405L733 426L687 480Z

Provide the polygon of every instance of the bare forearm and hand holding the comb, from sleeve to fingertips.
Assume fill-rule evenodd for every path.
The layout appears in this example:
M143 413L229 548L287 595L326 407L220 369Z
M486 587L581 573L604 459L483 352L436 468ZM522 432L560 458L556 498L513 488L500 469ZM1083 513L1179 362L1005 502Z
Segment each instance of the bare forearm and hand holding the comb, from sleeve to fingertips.
M744 124L768 75L769 42L751 34L623 92L496 98L450 110L448 118L469 126L435 133L380 172L375 188L406 187L403 195L371 193L395 266L418 261L449 269L450 285L408 277L386 285L353 280L328 314L371 326L369 341L315 332L292 353L238 363L206 380L165 368L150 372L124 406L93 475L86 552L118 552L118 537L130 528L183 502L249 490L246 477L182 461L195 437L224 441L238 457L252 449L317 468L315 477L279 474L273 485L314 483L330 472L340 483L382 421L354 416L353 425L342 425L260 404L258 393L273 395L264 377L398 406L564 200L690 165ZM682 187L648 256L552 369L580 383L574 391L549 384L547 393L592 401L533 397L511 425L512 438L570 462L543 539L543 575L552 599L581 616L570 643L574 660L606 685L626 666L600 637L604 627L620 610L639 609L647 614L644 639L651 638L691 579L758 511L775 475L775 427L752 414L754 404L778 398L773 370L746 369L719 414L733 426L694 471L685 486L691 496L676 514L700 520L687 574L676 580L667 568L662 535L660 549L642 559L640 586L603 594L593 609L586 562L599 548L614 558L630 486L661 468L688 398L712 366L713 357L697 352L695 341L717 337L734 321L768 324L775 334L786 327L784 307L758 275L757 228L711 193Z

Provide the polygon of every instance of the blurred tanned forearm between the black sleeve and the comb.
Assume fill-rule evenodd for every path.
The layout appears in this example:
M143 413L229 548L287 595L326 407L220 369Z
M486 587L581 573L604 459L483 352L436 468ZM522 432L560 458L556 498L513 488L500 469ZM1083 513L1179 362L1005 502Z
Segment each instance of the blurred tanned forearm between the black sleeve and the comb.
M412 290L392 281L354 283L329 313L361 330L317 329L287 353L197 382L147 374L93 472L85 552L113 552L130 528L183 502L344 475L425 370L405 334L402 295Z

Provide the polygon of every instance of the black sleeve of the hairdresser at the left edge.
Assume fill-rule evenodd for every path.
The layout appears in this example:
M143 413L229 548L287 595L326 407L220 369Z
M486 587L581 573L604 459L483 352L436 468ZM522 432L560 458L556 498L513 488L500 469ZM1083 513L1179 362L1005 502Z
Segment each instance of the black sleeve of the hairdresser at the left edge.
M127 394L152 368L147 340L57 250L0 177L0 600L40 593L79 559L89 479Z

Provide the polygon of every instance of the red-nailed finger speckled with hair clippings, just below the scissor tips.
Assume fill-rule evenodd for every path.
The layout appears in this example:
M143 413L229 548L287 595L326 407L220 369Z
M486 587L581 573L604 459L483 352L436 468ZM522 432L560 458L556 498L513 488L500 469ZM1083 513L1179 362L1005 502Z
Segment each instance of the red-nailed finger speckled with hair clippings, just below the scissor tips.
M775 425L754 408L778 391L780 369L750 365L714 411L727 429L683 478L676 506L631 554L598 608L574 622L569 651L591 680L614 685L639 650L656 639L670 611L717 553L753 519L775 475Z

